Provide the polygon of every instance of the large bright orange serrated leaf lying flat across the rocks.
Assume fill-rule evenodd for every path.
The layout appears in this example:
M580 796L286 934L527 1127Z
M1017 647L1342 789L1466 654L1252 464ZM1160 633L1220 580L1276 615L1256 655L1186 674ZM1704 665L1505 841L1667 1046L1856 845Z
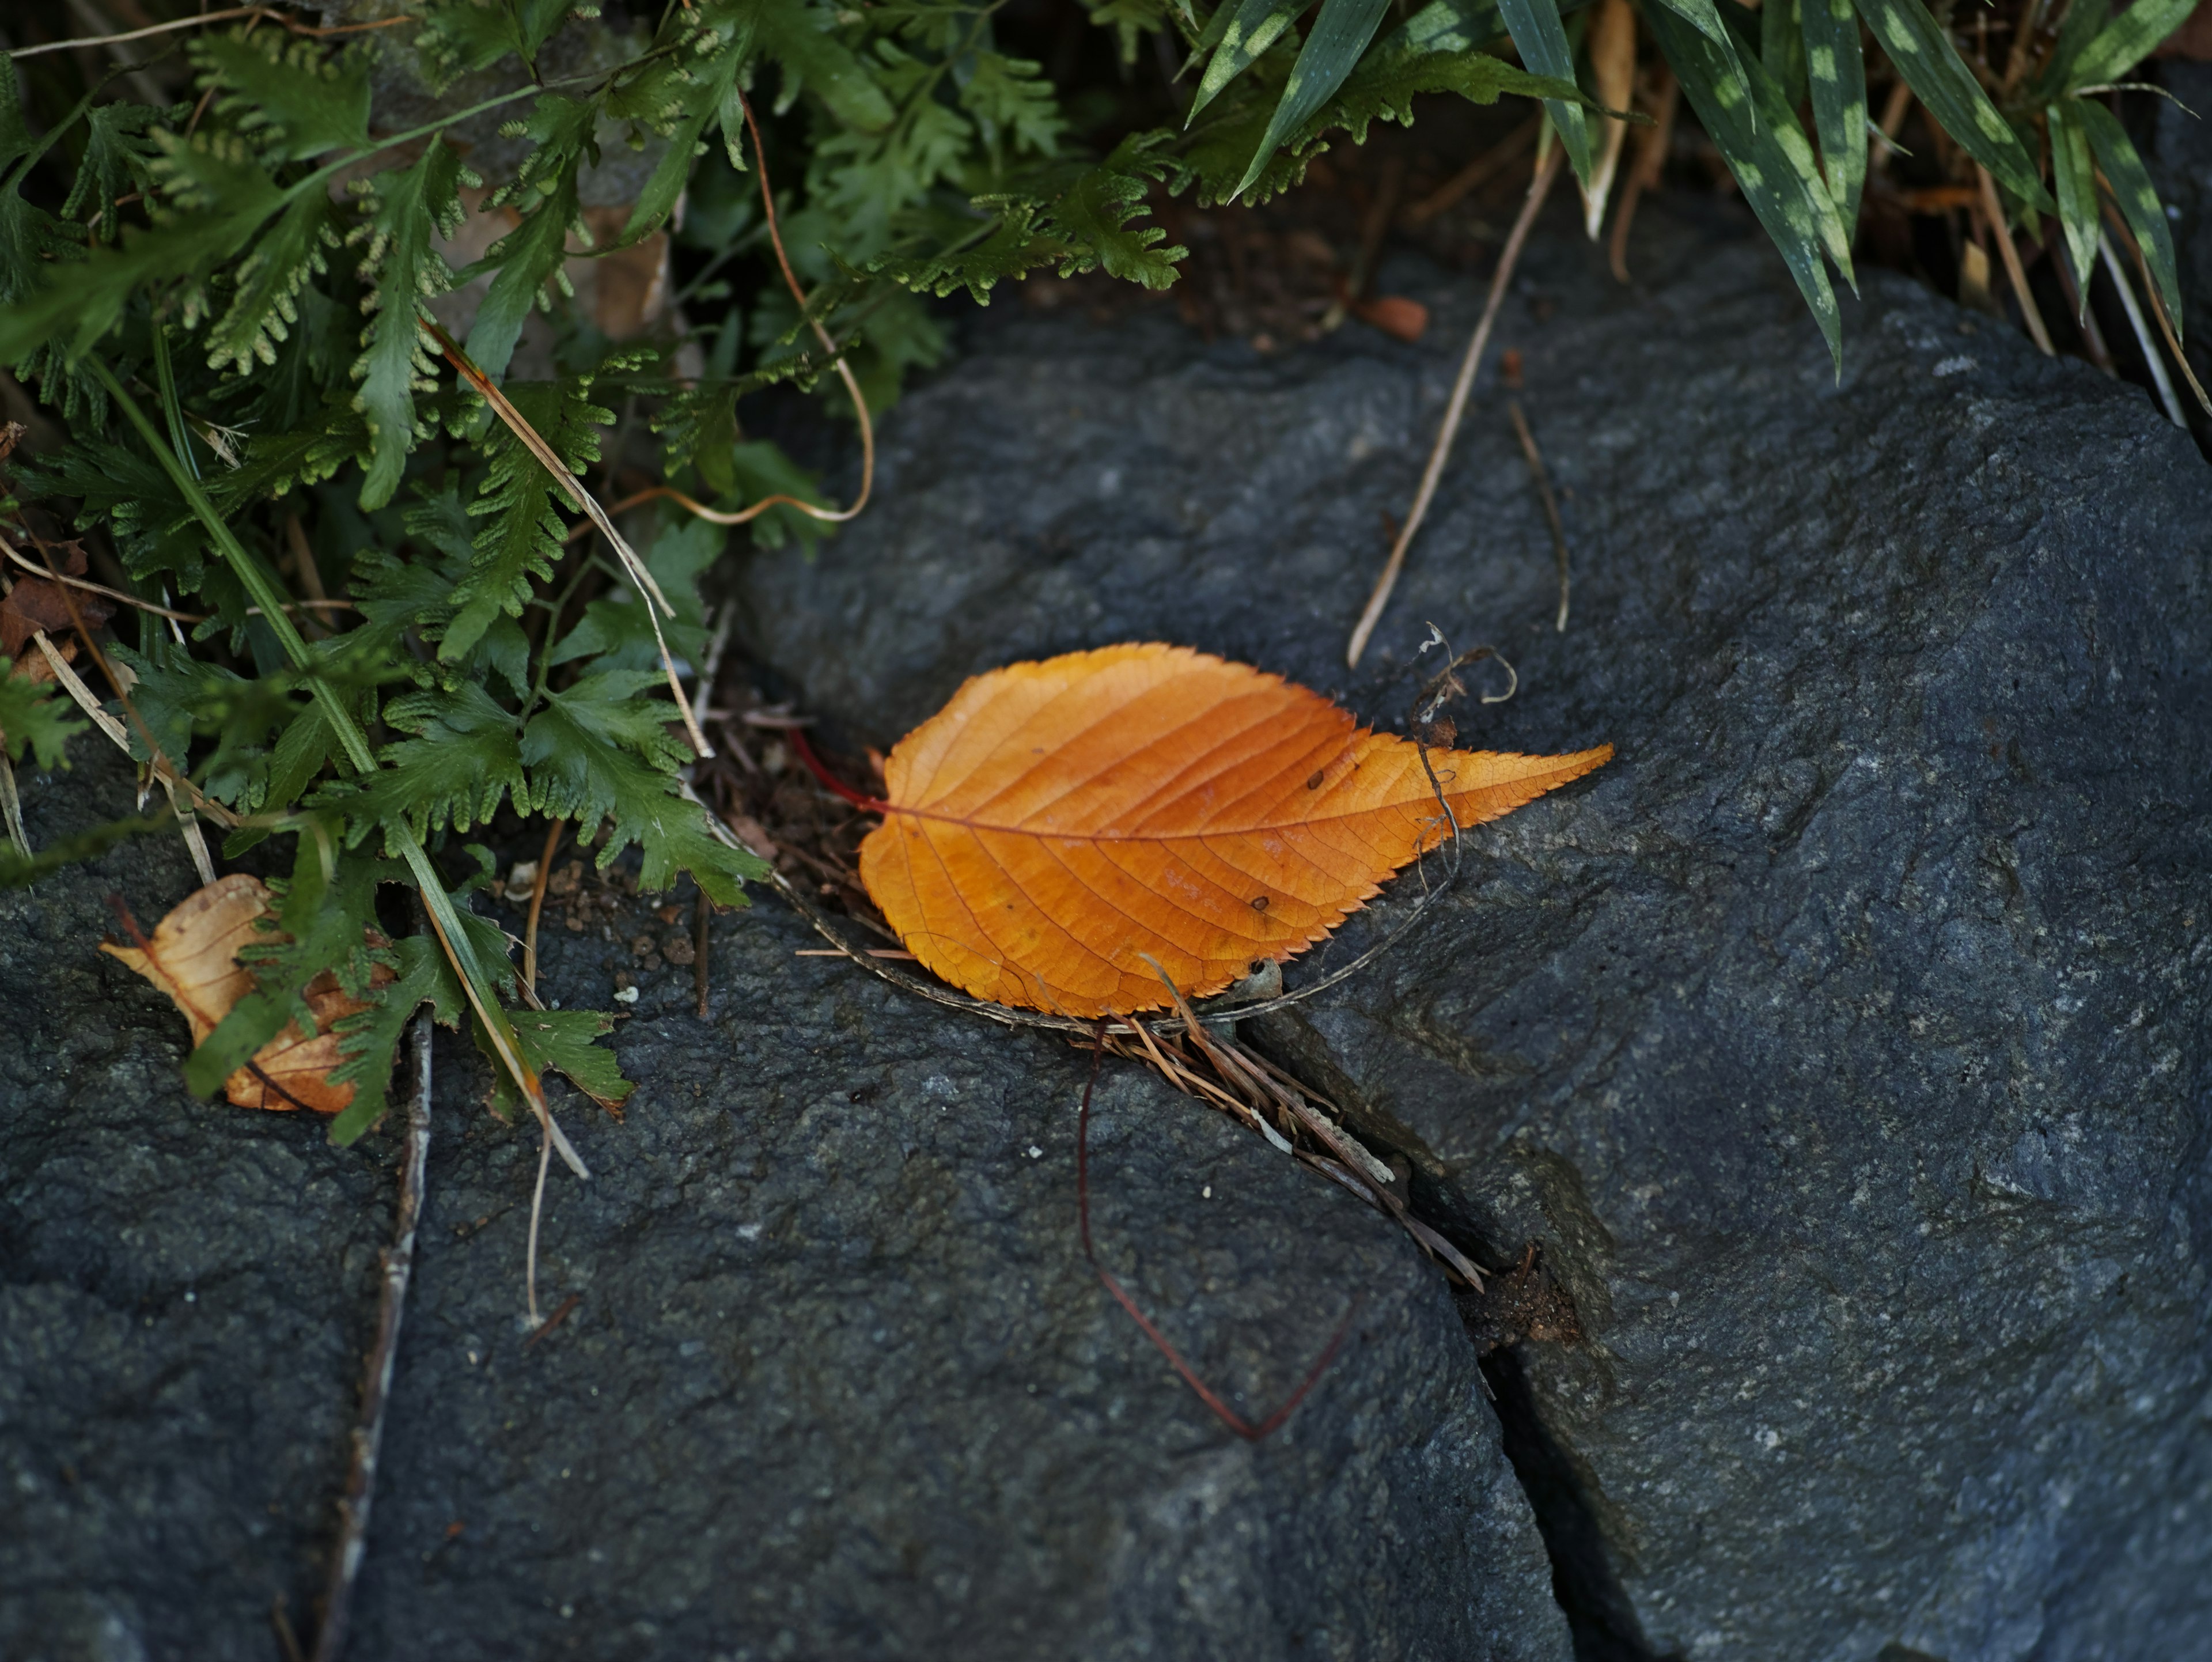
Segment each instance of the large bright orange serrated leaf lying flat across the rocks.
M1460 825L1601 766L1429 750ZM885 764L860 879L978 998L1108 1016L1305 952L1449 832L1420 750L1318 693L1186 646L978 675Z

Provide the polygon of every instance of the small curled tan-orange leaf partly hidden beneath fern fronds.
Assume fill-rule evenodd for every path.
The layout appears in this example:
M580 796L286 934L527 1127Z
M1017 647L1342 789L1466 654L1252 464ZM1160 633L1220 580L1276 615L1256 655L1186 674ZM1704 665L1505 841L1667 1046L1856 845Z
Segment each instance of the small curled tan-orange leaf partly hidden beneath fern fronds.
M285 938L257 927L268 914L270 892L261 887L261 879L234 872L184 896L155 925L153 941L139 936L135 947L102 941L100 949L122 958L168 994L190 1022L192 1042L199 1045L230 1007L254 989L252 972L239 963L239 947ZM378 965L372 978L389 980L392 972ZM314 1014L316 1031L303 1033L299 1022L285 1022L276 1038L254 1051L252 1062L223 1080L223 1095L241 1109L316 1113L338 1113L354 1100L352 1084L330 1082L330 1071L338 1067L338 1036L332 1027L367 1005L347 998L336 976L325 972L307 983L307 1009Z

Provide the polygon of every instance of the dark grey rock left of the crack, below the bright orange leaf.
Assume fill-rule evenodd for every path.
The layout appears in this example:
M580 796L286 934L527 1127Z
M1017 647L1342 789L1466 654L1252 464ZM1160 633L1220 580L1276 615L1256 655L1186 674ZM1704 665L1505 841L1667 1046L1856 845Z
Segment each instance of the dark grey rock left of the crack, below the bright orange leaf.
M93 755L24 794L40 843L128 812ZM0 896L9 1662L265 1662L334 1538L396 1138L184 1093L181 1020L93 943L106 892L150 921L190 885L164 837ZM668 929L608 905L549 921L568 1007ZM1402 1235L1106 1071L1102 1257L1232 1401L1265 1412L1358 1308L1239 1443L1082 1259L1084 1058L812 941L774 901L721 918L710 1020L688 969L639 976L626 1120L562 1107L595 1180L555 1166L542 1288L580 1303L531 1348L535 1140L440 1038L352 1655L1564 1662L1475 1352Z

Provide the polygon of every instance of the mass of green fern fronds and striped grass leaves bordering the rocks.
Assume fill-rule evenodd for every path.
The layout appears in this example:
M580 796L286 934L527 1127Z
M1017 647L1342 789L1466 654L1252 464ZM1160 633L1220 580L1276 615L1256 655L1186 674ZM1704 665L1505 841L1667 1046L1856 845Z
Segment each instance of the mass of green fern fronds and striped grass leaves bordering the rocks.
M49 615L24 671L82 642L73 675L113 677L102 717L228 830L226 856L296 843L290 943L261 952L261 996L195 1053L195 1084L301 1016L316 974L369 996L383 960L398 978L345 1029L361 1093L341 1140L383 1111L422 1000L473 1009L511 1093L540 1113L542 1067L611 1087L595 1018L507 1014L515 976L469 912L482 872L456 879L456 843L509 810L606 825L599 861L639 845L650 887L688 874L739 903L765 874L681 781L699 739L677 671L706 655L699 578L723 540L692 498L761 542L823 536L841 513L745 436L748 392L818 389L865 420L940 352L927 297L982 299L1035 270L1166 288L1186 250L1148 224L1155 193L1265 201L1338 135L1409 122L1429 93L1542 100L1601 206L1619 150L1606 111L1637 84L1632 53L1586 62L1577 0L1321 0L1312 15L1307 0L1079 0L1124 62L1161 38L1194 75L1181 126L1086 146L1064 89L1002 46L1004 2L599 15L356 0L325 4L323 24L179 15L106 46L104 75L82 71L86 53L42 51L35 35L58 42L75 18L58 0L11 15L24 38L18 73L0 75L0 363L66 434L11 460L7 582L44 584L27 591L42 604L126 606L104 648L97 617ZM1606 7L1626 15L1626 0ZM1679 84L1840 354L1827 272L1851 279L1867 89L1885 80L1920 100L1962 175L1986 170L2006 217L2031 232L2053 219L2084 294L2110 210L2179 336L2163 210L2097 100L2188 9L2017 0L1969 53L1922 0L1650 0L1641 27L1648 66ZM1635 24L1613 38L1637 40ZM611 204L599 186L615 177ZM562 299L622 259L664 259L679 208L681 314L615 328L604 305ZM440 314L467 314L465 343ZM617 409L655 436L648 489L633 491L659 498L637 507L657 516L641 558L582 487ZM575 531L571 509L588 509ZM64 571L71 531L111 558L113 595ZM53 677L0 679L9 764L53 768L84 733ZM4 764L0 808L15 879L102 841L33 854ZM387 881L420 892L431 927L365 947Z

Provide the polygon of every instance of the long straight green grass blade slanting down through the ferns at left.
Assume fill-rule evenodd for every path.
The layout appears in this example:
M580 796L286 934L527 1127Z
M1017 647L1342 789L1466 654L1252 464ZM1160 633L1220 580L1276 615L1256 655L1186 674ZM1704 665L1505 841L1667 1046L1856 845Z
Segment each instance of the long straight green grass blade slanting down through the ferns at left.
M115 372L108 370L100 356L86 356L84 363L100 378L100 385L106 387L115 407L124 412L124 418L137 427L139 438L146 440L146 449L153 451L153 458L184 496L192 516L201 522L201 527L206 527L215 551L223 555L223 562L230 564L232 573L237 573L246 593L261 606L263 620L268 622L270 633L276 635L276 644L283 648L285 657L290 657L296 668L307 673L307 690L314 695L316 706L321 706L323 719L330 721L330 730L338 735L347 764L363 777L376 772L376 752L369 748L369 737L354 721L354 713L345 708L345 699L338 697L336 688L314 673L314 655L307 651L307 642L301 637L299 629L292 626L292 617L283 609L283 591L268 575L268 571L261 569L261 562L254 560L237 540L223 522L223 516L215 511L206 491L199 489L199 480L195 480L186 471L184 463L177 460L168 440L161 438L161 432L153 425L146 412L139 409L137 398L133 398L124 389L124 383L115 378ZM462 991L469 996L469 1007L476 1011L476 1020L482 1025L487 1038L491 1038L500 1067L504 1067L515 1080L515 1089L522 1091L522 1100L531 1104L531 1111L538 1113L540 1122L551 1126L551 1135L555 1138L562 1157L568 1162L568 1168L577 1177L588 1180L591 1171L584 1166L575 1149L568 1146L568 1140L560 1135L560 1129L553 1126L553 1115L546 1109L538 1073L531 1071L515 1049L515 1036L507 1020L507 1011L500 1009L500 1000L491 991L491 978L484 974L484 967L476 960L476 952L469 947L469 938L460 927L460 914L453 910L453 896L447 894L445 881L438 876L438 868L429 861L429 852L422 848L420 839L416 839L414 828L403 819L392 821L392 825L387 825L387 834L394 843L398 843L400 856L414 872L416 887L422 892L422 905L429 910L431 927L438 932L438 943L445 947L445 956L451 960L453 974L460 976Z

